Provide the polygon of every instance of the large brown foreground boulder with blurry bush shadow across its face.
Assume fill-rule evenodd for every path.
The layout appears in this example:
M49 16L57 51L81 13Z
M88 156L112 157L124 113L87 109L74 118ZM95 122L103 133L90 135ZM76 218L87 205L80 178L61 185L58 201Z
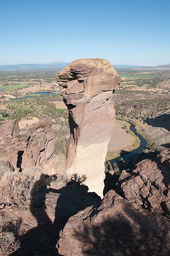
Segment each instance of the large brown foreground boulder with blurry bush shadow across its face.
M60 232L60 255L170 255L170 220L109 191L100 206L71 217Z

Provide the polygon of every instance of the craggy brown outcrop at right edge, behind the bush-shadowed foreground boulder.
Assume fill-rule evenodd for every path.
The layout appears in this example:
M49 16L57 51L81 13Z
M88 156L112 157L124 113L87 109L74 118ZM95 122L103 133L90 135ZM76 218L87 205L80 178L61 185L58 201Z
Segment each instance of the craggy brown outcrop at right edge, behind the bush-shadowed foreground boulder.
M123 171L117 187L127 200L170 218L170 149Z

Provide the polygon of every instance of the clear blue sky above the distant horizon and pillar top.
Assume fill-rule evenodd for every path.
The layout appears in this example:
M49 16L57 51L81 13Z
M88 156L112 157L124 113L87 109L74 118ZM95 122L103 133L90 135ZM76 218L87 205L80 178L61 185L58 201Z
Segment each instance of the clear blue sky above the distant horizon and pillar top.
M0 64L170 63L170 0L0 0Z

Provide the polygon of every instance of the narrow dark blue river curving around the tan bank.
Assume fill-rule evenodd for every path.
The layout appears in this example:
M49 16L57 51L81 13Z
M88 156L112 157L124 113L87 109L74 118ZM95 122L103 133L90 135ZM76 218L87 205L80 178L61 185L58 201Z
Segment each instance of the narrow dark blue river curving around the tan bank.
M123 158L123 160L128 160L129 158L131 158L131 156L137 156L139 153L142 152L142 150L147 148L147 141L140 134L138 134L138 132L135 129L134 124L131 124L129 129L132 132L134 132L135 135L140 139L140 145L139 145L138 148L132 150L131 152L129 152L129 153L123 155L123 156L119 156L119 157L114 158L114 159L112 159L110 161L107 161L107 162L110 162L111 165L113 165L115 162L119 163L121 158Z

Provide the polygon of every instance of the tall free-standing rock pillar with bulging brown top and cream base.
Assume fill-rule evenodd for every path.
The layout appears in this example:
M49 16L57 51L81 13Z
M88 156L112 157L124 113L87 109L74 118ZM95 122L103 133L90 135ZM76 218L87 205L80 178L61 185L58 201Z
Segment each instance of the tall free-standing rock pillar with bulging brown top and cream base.
M60 71L56 79L69 110L66 169L85 174L89 191L103 197L104 162L115 119L111 96L121 78L105 59L79 59Z

